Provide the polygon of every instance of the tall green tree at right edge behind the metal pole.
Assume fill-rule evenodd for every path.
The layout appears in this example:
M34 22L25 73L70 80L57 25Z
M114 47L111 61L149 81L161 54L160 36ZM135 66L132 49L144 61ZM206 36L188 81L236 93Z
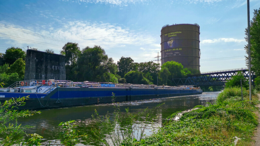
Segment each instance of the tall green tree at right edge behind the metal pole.
M248 41L248 29L245 30L245 40ZM254 10L254 16L250 21L250 50L251 50L251 65L252 70L257 76L260 76L260 8ZM245 46L248 54L248 44ZM248 64L248 57L246 56L246 63Z

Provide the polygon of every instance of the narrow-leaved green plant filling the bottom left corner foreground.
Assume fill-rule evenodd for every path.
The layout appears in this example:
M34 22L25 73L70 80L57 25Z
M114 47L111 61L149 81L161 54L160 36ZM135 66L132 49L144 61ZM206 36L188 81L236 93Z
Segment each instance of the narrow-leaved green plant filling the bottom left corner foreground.
M24 140L24 135L26 133L24 132L24 130L30 128L31 126L18 124L17 119L41 113L40 111L18 110L18 106L24 105L24 101L28 98L28 96L11 98L9 100L6 100L4 103L0 102L0 146L14 144L26 145L26 142ZM36 142L35 145L39 145L39 141L39 137L30 139L31 143Z

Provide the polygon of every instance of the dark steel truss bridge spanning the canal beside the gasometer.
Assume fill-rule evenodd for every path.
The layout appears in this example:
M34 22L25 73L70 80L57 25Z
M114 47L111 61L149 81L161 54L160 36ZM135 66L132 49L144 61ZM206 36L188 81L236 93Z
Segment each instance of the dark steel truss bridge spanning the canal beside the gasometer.
M220 71L211 71L211 72L202 72L200 75L192 75L187 78L174 78L172 79L173 85L210 85L210 86L219 86L225 85L227 80L232 76L237 75L238 71L242 71L244 77L249 79L248 68L240 69L230 69L230 70L220 70ZM254 72L251 72L251 79L254 80Z

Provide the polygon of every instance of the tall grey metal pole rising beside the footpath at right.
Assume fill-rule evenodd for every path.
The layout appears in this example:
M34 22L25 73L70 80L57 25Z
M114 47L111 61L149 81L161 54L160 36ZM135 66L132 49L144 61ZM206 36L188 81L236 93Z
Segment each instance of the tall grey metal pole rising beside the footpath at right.
M249 68L249 102L252 103L252 89L251 89L251 51L250 51L250 13L249 0L247 0L247 33L248 33L248 68Z

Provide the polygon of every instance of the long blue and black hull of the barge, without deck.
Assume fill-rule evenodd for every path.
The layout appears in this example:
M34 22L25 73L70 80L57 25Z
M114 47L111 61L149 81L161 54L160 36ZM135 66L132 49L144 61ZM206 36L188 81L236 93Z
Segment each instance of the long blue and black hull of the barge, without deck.
M84 88L59 87L49 94L0 92L1 103L11 97L29 96L24 106L19 109L48 109L69 106L99 104L112 102L112 92L115 102L135 101L162 97L185 96L202 94L191 89L144 89L144 88Z

